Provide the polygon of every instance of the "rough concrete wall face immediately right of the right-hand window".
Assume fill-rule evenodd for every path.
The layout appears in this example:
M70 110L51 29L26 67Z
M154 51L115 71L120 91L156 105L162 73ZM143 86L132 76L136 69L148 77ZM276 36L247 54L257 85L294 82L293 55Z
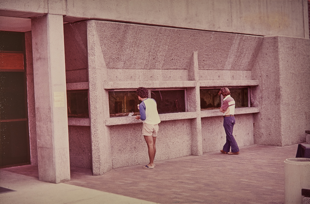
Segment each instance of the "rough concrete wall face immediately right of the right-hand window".
M279 56L277 37L264 38L252 70L259 86L251 95L253 106L261 107L255 115L255 144L282 146L280 120Z

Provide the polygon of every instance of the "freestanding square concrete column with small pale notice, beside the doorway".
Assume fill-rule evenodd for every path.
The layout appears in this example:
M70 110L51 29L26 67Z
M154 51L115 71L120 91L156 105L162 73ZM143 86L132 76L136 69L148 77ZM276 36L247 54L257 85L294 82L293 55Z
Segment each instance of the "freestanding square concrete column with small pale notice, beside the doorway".
M63 17L31 20L39 180L70 180Z

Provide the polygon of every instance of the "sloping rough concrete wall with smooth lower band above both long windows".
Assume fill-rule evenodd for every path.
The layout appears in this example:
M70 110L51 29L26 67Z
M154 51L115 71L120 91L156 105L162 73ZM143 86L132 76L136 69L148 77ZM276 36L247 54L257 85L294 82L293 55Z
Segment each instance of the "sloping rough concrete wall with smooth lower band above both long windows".
M232 73L234 80L250 80L250 70L263 39L232 33L94 22L108 68L108 81L187 81L193 51L198 52L200 80L221 80L228 73ZM172 69L176 71L169 71ZM139 78L141 76L143 78Z

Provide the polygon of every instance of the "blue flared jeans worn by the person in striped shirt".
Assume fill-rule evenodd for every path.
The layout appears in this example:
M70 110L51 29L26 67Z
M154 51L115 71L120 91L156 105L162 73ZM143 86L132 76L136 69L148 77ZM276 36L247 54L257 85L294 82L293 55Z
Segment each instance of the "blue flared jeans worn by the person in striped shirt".
M239 152L238 144L235 138L232 135L233 126L235 125L236 120L234 116L224 117L224 129L226 133L226 143L224 144L223 151L229 152L230 147L232 152Z

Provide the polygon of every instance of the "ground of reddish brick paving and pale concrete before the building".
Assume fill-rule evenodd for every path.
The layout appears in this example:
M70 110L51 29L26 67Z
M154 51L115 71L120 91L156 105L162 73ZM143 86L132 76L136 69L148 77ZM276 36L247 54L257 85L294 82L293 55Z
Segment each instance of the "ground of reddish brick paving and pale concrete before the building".
M71 181L38 181L37 166L1 169L1 193L9 203L284 203L284 160L296 156L298 144L275 147L250 145L239 155L217 152L113 169L92 176L72 168Z

